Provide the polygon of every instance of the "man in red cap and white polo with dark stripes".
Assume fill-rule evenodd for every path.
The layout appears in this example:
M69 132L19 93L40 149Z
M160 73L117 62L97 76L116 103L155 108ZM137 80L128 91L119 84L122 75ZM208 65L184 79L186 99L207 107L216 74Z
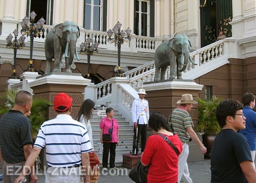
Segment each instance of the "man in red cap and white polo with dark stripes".
M49 165L46 182L80 183L80 164L86 175L84 182L90 182L88 152L92 151L92 146L87 129L70 116L72 98L65 93L57 94L54 99L54 110L58 114L57 117L41 125L33 151L23 169L23 175L20 175L15 182L24 178L29 170L28 166L34 163L44 147Z

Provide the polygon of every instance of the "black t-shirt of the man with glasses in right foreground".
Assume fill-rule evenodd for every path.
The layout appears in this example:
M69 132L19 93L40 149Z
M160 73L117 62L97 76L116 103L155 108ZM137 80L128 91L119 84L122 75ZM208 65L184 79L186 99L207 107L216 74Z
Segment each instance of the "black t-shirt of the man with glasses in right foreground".
M247 182L240 163L250 161L249 144L244 135L232 129L223 129L211 148L211 183Z

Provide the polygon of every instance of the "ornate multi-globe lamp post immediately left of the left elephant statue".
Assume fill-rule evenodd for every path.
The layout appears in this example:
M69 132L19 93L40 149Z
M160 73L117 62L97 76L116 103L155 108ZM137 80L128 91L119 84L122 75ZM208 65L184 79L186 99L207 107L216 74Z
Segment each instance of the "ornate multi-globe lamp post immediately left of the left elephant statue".
M28 65L27 70L25 70L25 71L34 72L33 59L32 59L34 37L45 38L45 35L44 35L45 29L43 28L43 26L44 26L46 20L43 17L41 17L35 24L35 22L34 22L35 16L36 16L35 12L32 11L29 15L30 15L31 23L28 26L29 18L27 16L25 18L23 18L22 22L20 22L20 24L22 24L22 30L20 30L20 33L22 33L22 35L27 35L27 37L30 36L29 65Z

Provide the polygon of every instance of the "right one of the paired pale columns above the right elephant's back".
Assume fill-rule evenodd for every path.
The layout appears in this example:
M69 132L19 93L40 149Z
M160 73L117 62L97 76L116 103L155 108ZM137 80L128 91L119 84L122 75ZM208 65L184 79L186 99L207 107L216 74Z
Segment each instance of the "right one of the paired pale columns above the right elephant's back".
M163 1L163 38L169 39L170 38L170 1L164 0Z

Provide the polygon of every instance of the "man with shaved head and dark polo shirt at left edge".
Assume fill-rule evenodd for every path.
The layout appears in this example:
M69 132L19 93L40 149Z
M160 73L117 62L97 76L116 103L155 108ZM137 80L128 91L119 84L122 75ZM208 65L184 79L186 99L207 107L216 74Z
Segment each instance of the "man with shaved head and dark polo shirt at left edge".
M26 159L32 152L30 120L24 116L32 106L32 95L25 90L17 93L15 103L9 112L0 119L0 159L3 162L3 179L12 183L19 176ZM16 172L17 170L20 170ZM30 180L31 177L31 180ZM31 173L27 182L36 182L37 177Z

